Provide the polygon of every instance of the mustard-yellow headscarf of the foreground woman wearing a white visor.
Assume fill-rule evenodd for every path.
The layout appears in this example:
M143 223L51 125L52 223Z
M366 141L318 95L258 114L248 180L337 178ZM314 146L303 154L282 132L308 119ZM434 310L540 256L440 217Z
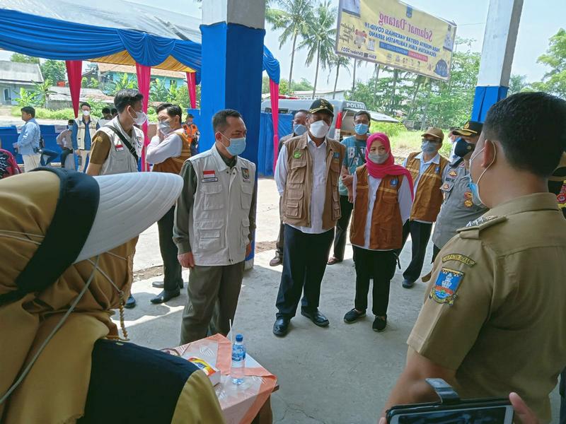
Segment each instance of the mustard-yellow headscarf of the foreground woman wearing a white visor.
M0 295L17 289L14 281L45 237L58 199L59 177L52 172L30 172L0 181ZM69 237L73 232L69 223ZM3 396L93 277L27 377L0 405L3 423L67 423L82 416L93 346L98 338L117 336L111 310L129 294L136 241L100 254L94 272L96 258L80 261L44 290L0 307Z

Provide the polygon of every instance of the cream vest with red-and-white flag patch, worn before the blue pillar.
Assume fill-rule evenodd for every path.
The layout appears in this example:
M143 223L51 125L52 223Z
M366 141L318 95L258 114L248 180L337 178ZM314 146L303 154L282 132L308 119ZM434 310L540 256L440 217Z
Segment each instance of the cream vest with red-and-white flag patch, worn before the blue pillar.
M195 264L224 266L246 259L255 164L238 156L228 167L216 146L189 159L197 189L189 215L189 238Z

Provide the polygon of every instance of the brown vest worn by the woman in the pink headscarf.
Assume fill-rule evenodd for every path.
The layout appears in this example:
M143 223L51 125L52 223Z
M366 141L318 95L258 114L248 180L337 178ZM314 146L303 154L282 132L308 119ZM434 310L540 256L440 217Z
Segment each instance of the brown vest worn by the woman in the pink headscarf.
M366 165L356 170L356 201L352 226L350 228L350 242L352 245L364 247L366 245L366 220L369 216L369 182ZM376 193L374 211L371 212L371 232L369 235L369 249L393 250L403 245L403 222L399 208L398 192L403 181L403 175L387 175L381 179Z

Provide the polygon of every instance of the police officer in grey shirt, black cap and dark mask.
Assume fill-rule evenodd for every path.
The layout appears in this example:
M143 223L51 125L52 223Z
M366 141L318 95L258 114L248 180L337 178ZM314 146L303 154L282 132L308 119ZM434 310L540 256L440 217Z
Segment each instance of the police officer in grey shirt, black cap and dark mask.
M484 205L473 202L470 189L470 156L475 143L480 139L482 132L481 122L468 121L462 129L454 129L452 134L458 137L454 143L456 160L450 164L440 190L444 201L437 216L437 223L432 233L432 261L436 259L440 249L456 235L456 230L477 218L487 211ZM422 277L422 281L430 280L430 273Z

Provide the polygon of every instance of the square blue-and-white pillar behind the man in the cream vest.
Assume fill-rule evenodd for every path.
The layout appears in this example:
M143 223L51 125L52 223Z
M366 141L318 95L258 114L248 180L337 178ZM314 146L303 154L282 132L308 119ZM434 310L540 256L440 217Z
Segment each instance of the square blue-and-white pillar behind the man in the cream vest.
M202 2L201 152L214 144L214 113L235 109L248 129L242 156L258 164L264 28L265 0Z

